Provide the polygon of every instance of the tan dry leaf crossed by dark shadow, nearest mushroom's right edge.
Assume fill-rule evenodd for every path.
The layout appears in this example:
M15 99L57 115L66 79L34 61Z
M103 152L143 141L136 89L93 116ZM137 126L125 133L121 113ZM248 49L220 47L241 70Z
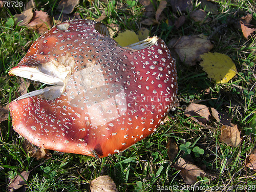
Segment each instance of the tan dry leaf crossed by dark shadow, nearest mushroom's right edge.
M191 103L185 110L184 115L191 117L194 121L204 125L209 120L210 112L208 107L203 104Z

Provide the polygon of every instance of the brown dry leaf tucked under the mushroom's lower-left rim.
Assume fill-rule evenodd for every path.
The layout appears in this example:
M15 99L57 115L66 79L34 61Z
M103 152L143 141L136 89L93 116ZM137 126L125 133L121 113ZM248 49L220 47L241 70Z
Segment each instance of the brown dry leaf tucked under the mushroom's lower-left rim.
M50 159L52 157L52 154L49 152L49 150L33 146L27 139L23 143L23 149L26 153L29 154L30 157L34 157L36 159Z

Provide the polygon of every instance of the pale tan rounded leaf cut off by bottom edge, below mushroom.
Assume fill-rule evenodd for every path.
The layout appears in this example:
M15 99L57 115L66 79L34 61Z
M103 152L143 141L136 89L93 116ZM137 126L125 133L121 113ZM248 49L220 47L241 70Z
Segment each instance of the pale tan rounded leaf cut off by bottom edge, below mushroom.
M90 182L92 192L114 192L117 191L116 184L108 175L99 176Z

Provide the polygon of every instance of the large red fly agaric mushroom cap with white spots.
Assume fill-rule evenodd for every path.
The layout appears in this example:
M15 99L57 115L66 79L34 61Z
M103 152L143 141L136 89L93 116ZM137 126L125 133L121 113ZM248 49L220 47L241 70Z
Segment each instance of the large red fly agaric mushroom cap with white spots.
M156 131L178 90L163 40L120 47L104 25L87 19L40 36L9 74L52 85L9 104L17 133L39 147L95 157Z

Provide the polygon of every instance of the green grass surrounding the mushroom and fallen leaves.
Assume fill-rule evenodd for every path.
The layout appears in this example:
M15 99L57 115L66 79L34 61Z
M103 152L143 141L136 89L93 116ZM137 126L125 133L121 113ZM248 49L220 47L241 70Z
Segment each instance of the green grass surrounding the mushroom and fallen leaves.
M33 168L26 186L27 191L89 191L90 181L100 175L111 176L119 191L158 191L159 186L185 186L184 180L168 159L166 145L170 138L174 138L183 147L184 150L179 155L184 155L182 152L188 153L188 148L189 159L216 176L209 181L198 178L198 186L226 186L236 191L237 187L256 185L255 172L244 166L246 157L254 149L256 134L256 37L254 35L246 40L241 30L232 27L234 19L248 12L253 13L253 22L256 23L255 2L215 1L218 14L209 14L211 22L203 25L194 22L186 12L179 13L186 15L186 22L178 30L165 23L166 19L174 20L179 16L178 13L172 13L170 5L164 9L165 18L159 25L143 26L140 24L144 19L143 7L137 1L111 1L109 4L97 0L91 2L80 1L74 11L83 18L98 18L105 12L106 18L102 20L105 25L115 24L119 25L121 31L130 29L135 32L140 27L146 27L151 30L151 35L160 36L166 44L175 37L203 33L214 44L211 52L224 53L231 57L239 74L228 83L216 84L199 65L188 67L176 58L180 106L170 113L172 119L161 125L152 136L123 153L101 159L55 153L49 160L29 157L22 148L24 139L12 130L9 118L0 126L0 190L6 191L9 179ZM204 9L200 4L194 5L195 10L199 8ZM36 1L36 9L54 16L57 14L57 3ZM4 7L0 12L1 105L6 105L16 97L15 92L19 86L17 78L10 77L8 71L26 54L28 48L24 47L27 42L34 41L39 36L26 27L14 25L13 15L22 10L23 8ZM30 86L29 89L34 88ZM230 147L220 142L221 125L216 121L212 120L204 127L187 118L184 107L193 99L205 100L200 104L229 114L233 118L232 122L241 131L242 143L238 147ZM199 149L204 153L200 154Z

